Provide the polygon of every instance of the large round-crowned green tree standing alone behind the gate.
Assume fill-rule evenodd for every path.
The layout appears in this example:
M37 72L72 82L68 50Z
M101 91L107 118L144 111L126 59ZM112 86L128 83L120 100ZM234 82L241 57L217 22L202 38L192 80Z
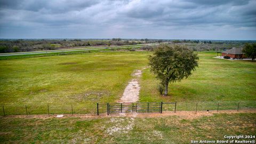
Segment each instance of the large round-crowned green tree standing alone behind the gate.
M183 78L188 78L191 71L198 67L198 56L193 51L180 45L161 44L149 56L151 71L160 80L167 95L168 85L173 82L180 82Z

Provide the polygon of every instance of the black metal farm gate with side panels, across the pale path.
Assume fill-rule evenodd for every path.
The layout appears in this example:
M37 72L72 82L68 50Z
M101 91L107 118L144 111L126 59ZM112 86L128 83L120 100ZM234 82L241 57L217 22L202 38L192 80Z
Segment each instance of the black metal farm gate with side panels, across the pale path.
M168 104L175 104L174 113L176 112L176 102L124 102L124 103L106 103L99 104L97 103L97 114L99 111L106 107L105 113L115 114L115 113L162 113L163 106ZM103 107L99 107L103 106ZM167 106L166 106L167 107ZM101 110L102 111L102 110ZM104 113L104 112L103 112Z

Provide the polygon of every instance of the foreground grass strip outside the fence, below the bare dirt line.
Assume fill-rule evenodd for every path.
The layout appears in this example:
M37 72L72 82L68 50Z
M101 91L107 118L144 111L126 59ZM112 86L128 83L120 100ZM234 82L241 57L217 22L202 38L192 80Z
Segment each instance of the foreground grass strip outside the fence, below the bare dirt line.
M214 114L196 119L0 118L0 143L190 143L255 135L256 114ZM243 139L234 139L243 140ZM255 139L245 139L255 140Z

